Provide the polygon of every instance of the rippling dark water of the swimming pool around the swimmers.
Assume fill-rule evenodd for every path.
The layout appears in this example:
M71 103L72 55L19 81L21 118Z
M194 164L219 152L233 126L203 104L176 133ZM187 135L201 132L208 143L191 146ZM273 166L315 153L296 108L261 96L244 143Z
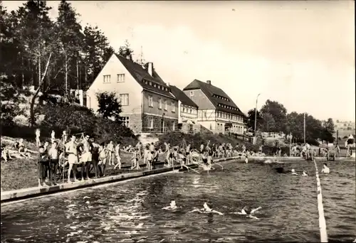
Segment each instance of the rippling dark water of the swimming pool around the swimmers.
M318 162L319 170L323 161ZM315 176L281 165L223 163L209 174L172 173L1 206L1 242L319 242ZM329 242L355 239L355 161L320 175ZM313 161L283 165L308 171ZM162 210L176 200L176 211ZM224 215L189 212L211 202ZM234 215L262 207L259 220Z

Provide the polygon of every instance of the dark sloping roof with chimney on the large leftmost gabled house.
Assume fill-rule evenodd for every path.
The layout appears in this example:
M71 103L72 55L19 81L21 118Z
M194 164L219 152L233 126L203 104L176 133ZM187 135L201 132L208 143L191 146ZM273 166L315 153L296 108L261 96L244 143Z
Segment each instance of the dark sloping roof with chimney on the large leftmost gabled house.
M174 96L169 92L168 85L162 80L161 77L159 77L155 69L153 69L151 76L147 72L147 69L142 67L142 65L135 63L132 60L128 60L127 58L122 57L121 55L115 55L144 90L157 92L160 95L165 95L174 99ZM150 85L150 82L152 85ZM156 87L154 87L154 85L156 85ZM164 90L159 87L164 87ZM166 88L167 90L165 90Z

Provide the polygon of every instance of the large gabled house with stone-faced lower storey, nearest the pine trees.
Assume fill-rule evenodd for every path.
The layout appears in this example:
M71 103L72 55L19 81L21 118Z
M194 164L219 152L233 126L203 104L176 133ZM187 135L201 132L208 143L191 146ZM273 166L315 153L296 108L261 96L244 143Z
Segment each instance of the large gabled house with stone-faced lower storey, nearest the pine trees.
M122 104L123 124L135 133L175 130L178 100L155 71L153 63L140 65L112 54L86 92L86 106L98 110L97 92L116 92Z

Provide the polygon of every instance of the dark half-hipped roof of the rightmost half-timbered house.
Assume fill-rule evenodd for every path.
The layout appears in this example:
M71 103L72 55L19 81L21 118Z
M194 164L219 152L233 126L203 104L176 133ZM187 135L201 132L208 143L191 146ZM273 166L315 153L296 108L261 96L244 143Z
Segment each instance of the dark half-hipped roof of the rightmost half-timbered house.
M206 82L201 82L199 80L194 80L183 90L201 90L202 92L204 92L206 97L208 97L211 103L214 104L214 107L217 110L221 112L238 114L245 117L244 112L241 112L239 107L237 107L237 105L232 101L229 95L226 95L226 93L223 90L221 90L219 87L210 85ZM220 97L224 99L221 99ZM230 109L224 106L234 107L234 109Z

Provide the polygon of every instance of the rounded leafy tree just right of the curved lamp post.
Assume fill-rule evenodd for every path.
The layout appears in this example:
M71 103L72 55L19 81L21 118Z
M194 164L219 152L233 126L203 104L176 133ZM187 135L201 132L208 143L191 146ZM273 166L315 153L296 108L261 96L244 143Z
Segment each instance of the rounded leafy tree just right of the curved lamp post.
M266 114L270 114L274 120L274 125L268 125L270 131L273 127L274 131L284 131L286 132L286 116L287 116L287 109L276 101L271 101L267 99L266 104L263 105L261 108L261 116L265 119ZM271 123L271 117L267 115L269 121Z

